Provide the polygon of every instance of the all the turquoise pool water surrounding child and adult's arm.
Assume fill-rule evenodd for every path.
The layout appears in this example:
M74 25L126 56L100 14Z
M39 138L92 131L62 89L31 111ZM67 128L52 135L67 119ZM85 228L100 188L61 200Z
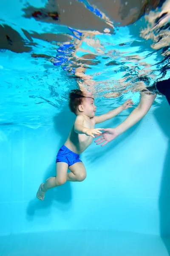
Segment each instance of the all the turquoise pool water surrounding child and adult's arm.
M169 1L0 2L0 256L170 255L170 112L157 95L133 128L82 154L87 178L46 193L74 114L97 115L169 73ZM116 127L124 111L104 128Z

